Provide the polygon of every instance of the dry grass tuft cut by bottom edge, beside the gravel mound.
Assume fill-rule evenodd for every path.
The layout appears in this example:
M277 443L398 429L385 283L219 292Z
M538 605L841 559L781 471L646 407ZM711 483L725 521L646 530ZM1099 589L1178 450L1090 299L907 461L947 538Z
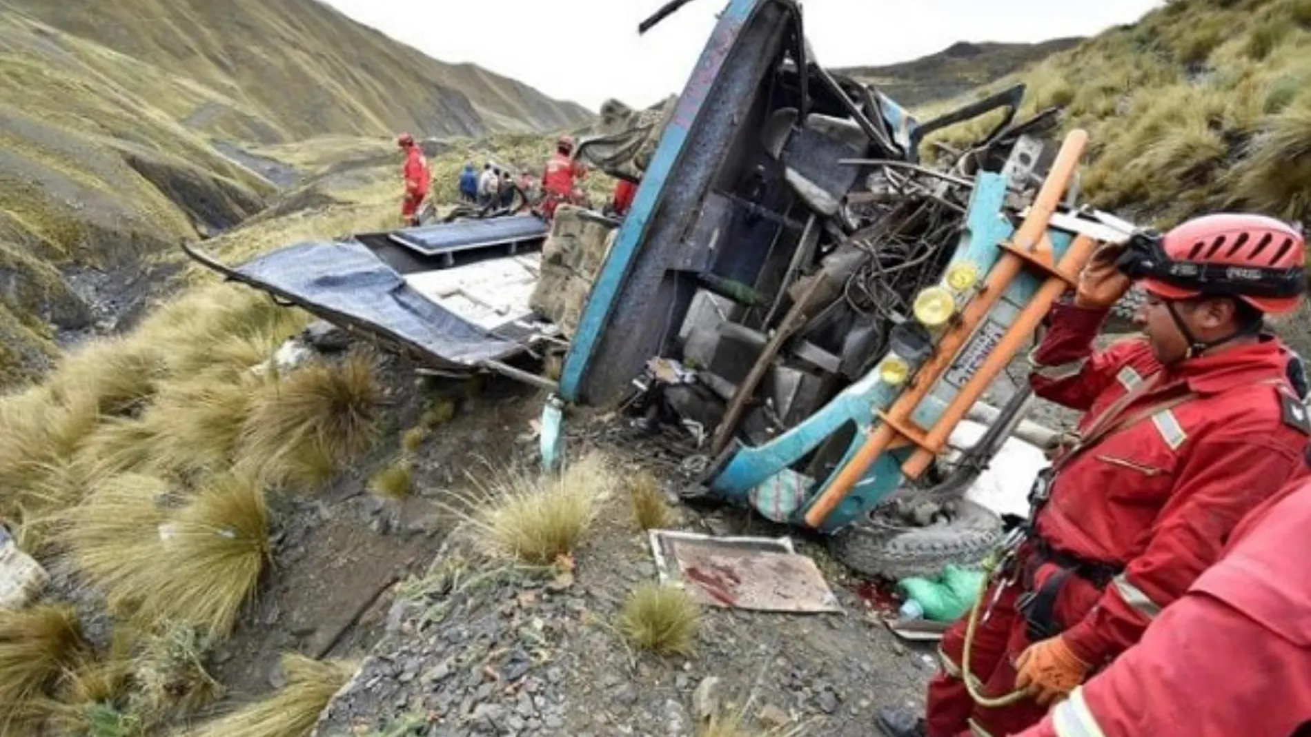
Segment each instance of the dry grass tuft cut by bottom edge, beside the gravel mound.
M347 664L290 653L282 658L282 670L287 682L278 692L184 737L308 737L328 702L354 673Z

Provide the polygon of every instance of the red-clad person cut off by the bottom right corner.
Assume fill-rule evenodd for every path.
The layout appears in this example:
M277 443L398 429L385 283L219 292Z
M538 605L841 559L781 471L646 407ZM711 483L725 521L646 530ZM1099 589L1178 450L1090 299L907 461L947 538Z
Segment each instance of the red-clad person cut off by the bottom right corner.
M1142 640L1021 737L1311 736L1311 483L1234 529Z

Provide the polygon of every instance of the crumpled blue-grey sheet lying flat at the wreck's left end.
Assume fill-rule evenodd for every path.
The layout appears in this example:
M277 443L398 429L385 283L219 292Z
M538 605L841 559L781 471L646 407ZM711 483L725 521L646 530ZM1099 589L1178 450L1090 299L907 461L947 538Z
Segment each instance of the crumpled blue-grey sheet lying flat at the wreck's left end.
M455 365L520 350L427 300L359 242L298 243L232 271L309 312L324 308Z

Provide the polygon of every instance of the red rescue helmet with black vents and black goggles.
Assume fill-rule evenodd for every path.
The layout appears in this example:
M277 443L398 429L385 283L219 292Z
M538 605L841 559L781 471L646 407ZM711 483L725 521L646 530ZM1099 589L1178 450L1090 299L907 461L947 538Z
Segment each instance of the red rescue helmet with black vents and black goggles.
M1151 240L1130 243L1125 271L1165 300L1232 296L1272 314L1293 312L1306 291L1306 241L1264 215L1194 217Z

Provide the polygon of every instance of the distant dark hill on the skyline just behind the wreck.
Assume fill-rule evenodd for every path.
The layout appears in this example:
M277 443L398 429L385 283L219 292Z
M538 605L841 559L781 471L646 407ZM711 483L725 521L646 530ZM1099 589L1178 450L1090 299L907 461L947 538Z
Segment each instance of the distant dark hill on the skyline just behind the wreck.
M842 73L878 88L905 106L965 94L1079 43L1057 38L1042 43L953 43L911 62L885 67L851 67Z

